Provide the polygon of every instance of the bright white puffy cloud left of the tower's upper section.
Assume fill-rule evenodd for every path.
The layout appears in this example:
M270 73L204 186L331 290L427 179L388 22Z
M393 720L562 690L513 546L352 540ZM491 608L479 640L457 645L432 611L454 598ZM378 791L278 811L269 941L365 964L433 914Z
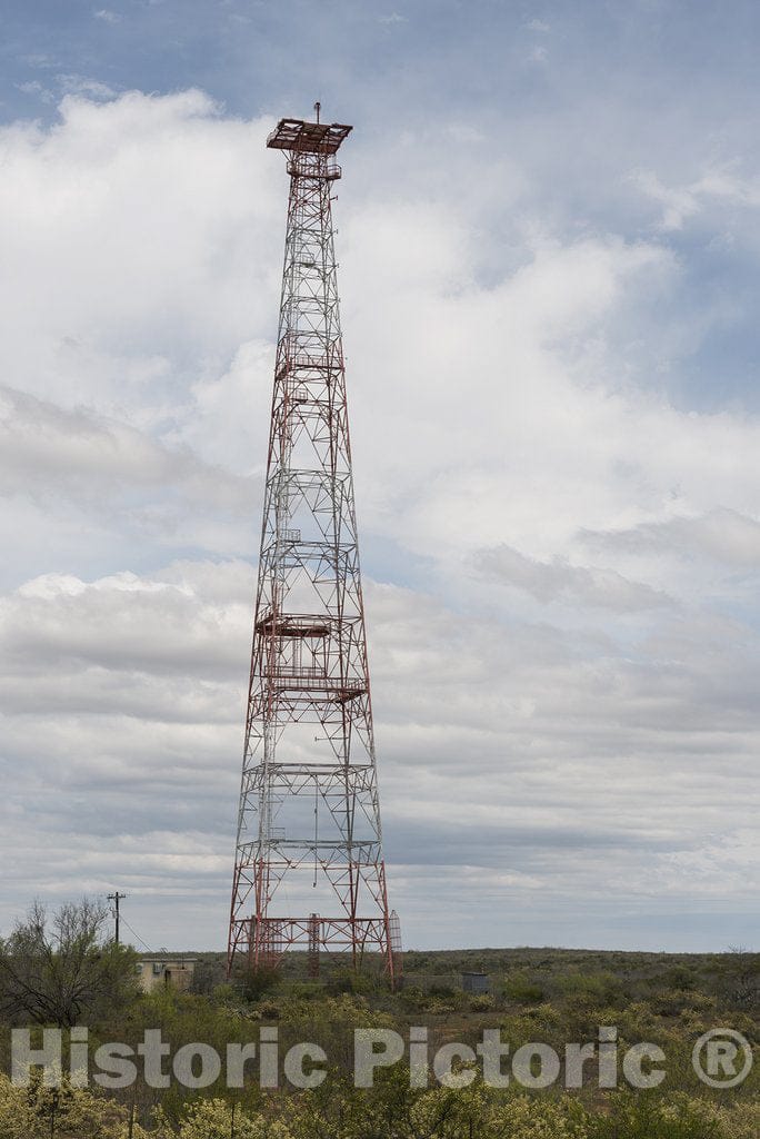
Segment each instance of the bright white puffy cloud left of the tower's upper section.
M257 303L271 281L276 305L281 255L269 122L224 120L199 91L69 95L60 115L0 131L3 375L63 405L171 415L180 377L217 374L271 330Z

